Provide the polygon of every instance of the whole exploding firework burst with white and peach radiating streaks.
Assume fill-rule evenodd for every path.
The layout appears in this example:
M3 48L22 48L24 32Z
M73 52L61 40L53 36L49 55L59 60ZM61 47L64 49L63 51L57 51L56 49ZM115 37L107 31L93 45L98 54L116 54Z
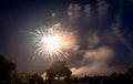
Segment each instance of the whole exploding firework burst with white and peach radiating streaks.
M65 61L69 51L75 49L75 32L64 29L60 23L31 32L35 53L47 61Z

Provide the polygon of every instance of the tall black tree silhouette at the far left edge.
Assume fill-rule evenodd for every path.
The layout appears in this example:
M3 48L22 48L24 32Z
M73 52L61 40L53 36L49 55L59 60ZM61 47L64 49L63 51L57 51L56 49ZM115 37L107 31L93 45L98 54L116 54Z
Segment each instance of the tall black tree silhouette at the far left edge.
M11 71L16 70L16 64L0 55L0 84L10 80Z

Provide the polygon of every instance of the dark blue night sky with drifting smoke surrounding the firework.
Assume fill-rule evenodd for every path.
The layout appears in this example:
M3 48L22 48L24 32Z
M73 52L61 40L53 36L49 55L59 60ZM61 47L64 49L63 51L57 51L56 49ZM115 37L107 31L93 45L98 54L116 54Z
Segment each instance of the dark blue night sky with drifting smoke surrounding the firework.
M19 71L44 71L51 63L32 59L29 32L54 23L78 31L78 50L66 62L74 74L133 67L133 0L1 0L0 54Z

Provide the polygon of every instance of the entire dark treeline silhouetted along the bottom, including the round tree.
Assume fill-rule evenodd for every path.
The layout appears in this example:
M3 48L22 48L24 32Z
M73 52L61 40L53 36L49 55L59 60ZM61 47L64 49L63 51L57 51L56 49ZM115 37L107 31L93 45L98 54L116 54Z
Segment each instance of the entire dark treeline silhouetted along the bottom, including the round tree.
M0 84L133 84L133 69L129 69L125 73L78 77L71 76L65 63L57 62L47 72L49 72L48 76L50 78L44 81L41 77L42 73L16 71L16 64L0 55ZM66 77L64 80L54 80L57 75L58 77Z

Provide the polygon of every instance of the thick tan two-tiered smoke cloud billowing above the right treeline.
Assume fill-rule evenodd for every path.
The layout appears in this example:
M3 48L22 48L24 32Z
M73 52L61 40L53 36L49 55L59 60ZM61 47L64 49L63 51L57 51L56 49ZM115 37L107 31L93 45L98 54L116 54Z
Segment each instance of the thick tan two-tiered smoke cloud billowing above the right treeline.
M80 62L81 66L71 67L72 74L78 76L111 74L117 70L115 66L109 65L114 54L114 51L108 45L85 50Z

